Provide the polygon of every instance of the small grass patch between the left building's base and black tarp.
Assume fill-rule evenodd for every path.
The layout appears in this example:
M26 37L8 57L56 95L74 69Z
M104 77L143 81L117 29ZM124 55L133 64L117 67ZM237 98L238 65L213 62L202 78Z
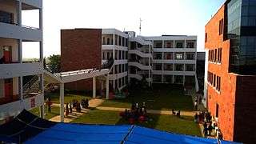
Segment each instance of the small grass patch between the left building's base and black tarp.
M59 111L60 111L60 110L59 110L59 107L53 107L53 106L52 106L50 113L48 113L48 110L47 110L47 109L48 109L48 107L45 106L45 113L46 113L45 119L54 118L55 116L59 115ZM38 117L40 117L39 107L30 110L30 113L35 114L35 115L37 115Z

